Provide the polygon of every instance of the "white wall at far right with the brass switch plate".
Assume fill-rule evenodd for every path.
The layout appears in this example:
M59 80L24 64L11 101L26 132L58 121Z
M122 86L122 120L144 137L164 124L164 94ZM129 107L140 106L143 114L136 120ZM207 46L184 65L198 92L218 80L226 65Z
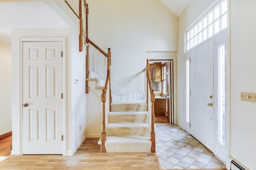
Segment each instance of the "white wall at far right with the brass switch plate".
M256 93L256 1L231 0L231 140L230 155L256 169L256 103L240 92Z

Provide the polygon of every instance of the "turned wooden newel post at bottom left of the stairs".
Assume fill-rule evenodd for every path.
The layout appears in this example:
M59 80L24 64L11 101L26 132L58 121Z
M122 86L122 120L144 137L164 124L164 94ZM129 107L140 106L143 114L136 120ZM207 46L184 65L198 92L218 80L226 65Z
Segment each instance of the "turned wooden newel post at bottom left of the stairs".
M101 94L102 101L102 133L101 133L101 152L106 152L105 142L106 142L106 112L105 112L105 104L106 104L106 90L102 90Z

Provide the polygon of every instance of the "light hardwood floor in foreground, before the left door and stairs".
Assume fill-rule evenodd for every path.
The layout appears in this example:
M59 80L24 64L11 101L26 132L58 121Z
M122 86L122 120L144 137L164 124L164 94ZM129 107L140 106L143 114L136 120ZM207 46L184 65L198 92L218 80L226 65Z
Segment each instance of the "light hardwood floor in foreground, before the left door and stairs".
M160 170L156 153L100 153L98 138L88 138L73 156L14 155L0 170ZM192 170L192 169L190 169ZM208 169L210 170L210 169ZM211 169L226 170L226 168Z

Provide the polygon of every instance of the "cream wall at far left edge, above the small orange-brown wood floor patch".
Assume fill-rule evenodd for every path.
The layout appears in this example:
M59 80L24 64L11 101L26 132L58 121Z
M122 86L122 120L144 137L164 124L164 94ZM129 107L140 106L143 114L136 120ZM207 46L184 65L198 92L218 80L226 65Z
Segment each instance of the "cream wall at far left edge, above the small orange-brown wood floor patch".
M0 135L12 131L11 45L0 42Z

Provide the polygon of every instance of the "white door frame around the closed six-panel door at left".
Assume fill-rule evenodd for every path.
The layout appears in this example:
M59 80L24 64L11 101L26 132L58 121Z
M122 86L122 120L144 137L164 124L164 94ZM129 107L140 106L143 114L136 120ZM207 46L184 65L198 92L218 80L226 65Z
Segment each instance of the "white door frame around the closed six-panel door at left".
M23 42L39 42L39 41L60 41L62 42L62 89L63 89L63 150L62 155L66 156L66 38L65 37L21 37L20 38L20 54L19 54L19 144L20 144L20 154L23 154Z

